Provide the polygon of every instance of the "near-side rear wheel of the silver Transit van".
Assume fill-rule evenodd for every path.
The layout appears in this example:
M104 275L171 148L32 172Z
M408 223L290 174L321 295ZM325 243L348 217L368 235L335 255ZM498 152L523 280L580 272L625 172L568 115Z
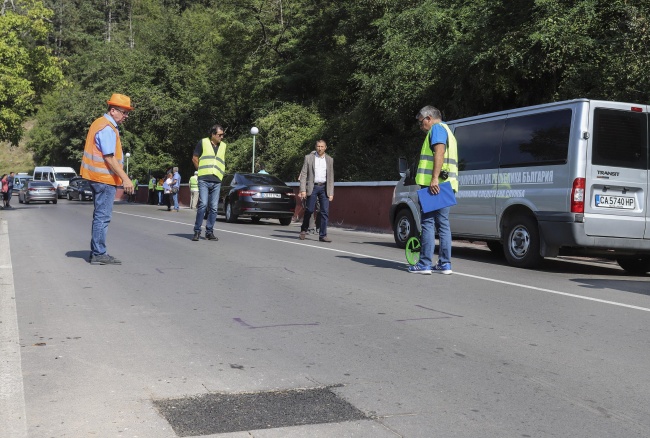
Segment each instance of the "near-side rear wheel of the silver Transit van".
M516 216L506 226L504 245L506 260L517 268L532 268L541 263L539 230L530 216Z

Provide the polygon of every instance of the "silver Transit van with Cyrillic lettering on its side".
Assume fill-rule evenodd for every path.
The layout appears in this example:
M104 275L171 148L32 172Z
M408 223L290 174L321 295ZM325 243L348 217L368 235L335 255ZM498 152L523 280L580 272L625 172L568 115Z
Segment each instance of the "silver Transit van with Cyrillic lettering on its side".
M576 99L448 122L459 158L453 236L518 267L573 254L650 271L649 112ZM390 212L402 247L420 233L414 166L400 159Z

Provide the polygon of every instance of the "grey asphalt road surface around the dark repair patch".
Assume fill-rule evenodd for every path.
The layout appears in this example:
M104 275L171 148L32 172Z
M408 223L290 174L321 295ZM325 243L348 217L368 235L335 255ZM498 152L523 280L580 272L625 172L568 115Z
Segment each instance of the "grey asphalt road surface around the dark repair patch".
M412 275L391 235L220 220L192 242L192 211L132 204L123 265L93 266L91 216L0 211L2 437L175 437L156 403L324 387L368 419L214 436L650 436L650 277L467 242L453 275Z

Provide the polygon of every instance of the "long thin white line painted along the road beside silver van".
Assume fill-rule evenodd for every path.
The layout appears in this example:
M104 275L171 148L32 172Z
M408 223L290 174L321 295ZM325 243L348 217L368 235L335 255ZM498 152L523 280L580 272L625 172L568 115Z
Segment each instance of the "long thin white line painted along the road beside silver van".
M186 222L172 221L172 220L168 220L168 219L159 219L159 218L154 218L154 217L150 217L150 216L143 216L143 215L137 215L137 214L131 214L131 213L122 213L122 212L116 212L116 213L123 214L123 215L126 215L126 216L136 216L136 217L142 217L142 218L145 218L145 219L153 219L153 220L171 222L171 223L176 223L176 224L181 224L181 225L188 225ZM189 225L193 226L194 224L189 224ZM230 230L223 230L223 229L217 229L217 228L215 228L215 230L218 230L219 232L222 232L222 233L236 234L236 235L246 236L246 237L255 237L255 238L258 238L258 239L272 240L272 241L275 241L275 242L281 242L281 243L286 243L286 244L291 244L291 245L309 246L311 248L322 250L322 251L332 251L332 252L337 252L337 253L340 253L340 254L347 254L347 255L353 255L353 256L359 256L359 257L366 257L366 258L381 260L381 261L385 261L385 262L393 262L393 263L397 263L397 264L401 264L401 265L406 265L407 264L407 263L405 263L404 261L401 261L401 260L393 260L393 259L387 259L387 258L383 258L383 257L372 256L372 255L368 255L368 254L361 254L361 253L357 253L357 252L344 251L344 250L336 249L336 248L330 248L330 247L324 247L324 246L316 246L316 245L311 245L310 243L307 243L307 242L304 242L304 241L291 242L291 241L284 240L284 239L278 239L277 237L257 236L255 234L242 233L242 232L239 232L239 231L230 231ZM601 303L601 304L609 304L609 305L612 305L612 306L625 307L625 308L634 309L634 310L641 310L643 312L650 312L650 308L647 308L647 307L634 306L632 304L619 303L617 301L601 300L600 298L587 297L587 296L584 296L584 295L577 295L577 294L572 294L572 293L568 293L568 292L561 292L561 291L557 291L557 290L553 290L553 289L545 289L545 288L536 287L536 286L529 286L527 284L514 283L514 282L511 282L511 281L497 280L495 278L481 277L479 275L463 274L463 273L460 273L458 271L454 271L453 275L458 275L458 276L462 276L462 277L469 277L469 278L474 278L474 279L483 280L483 281L490 281L492 283L506 284L508 286L514 286L514 287L519 287L519 288L522 288L522 289L529 289L529 290L535 290L535 291L538 291L538 292L545 292L545 293L550 293L550 294L555 294L555 295L561 295L561 296L570 297L570 298L578 298L578 299L581 299L581 300L593 301L593 302Z

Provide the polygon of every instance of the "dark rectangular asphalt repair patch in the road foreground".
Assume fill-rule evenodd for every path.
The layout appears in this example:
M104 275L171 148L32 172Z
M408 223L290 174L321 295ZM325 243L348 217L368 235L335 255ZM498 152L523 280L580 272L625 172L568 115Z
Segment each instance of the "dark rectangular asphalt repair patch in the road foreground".
M369 419L330 387L154 400L179 437Z

